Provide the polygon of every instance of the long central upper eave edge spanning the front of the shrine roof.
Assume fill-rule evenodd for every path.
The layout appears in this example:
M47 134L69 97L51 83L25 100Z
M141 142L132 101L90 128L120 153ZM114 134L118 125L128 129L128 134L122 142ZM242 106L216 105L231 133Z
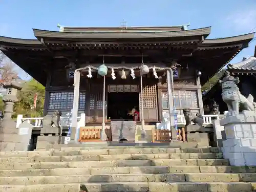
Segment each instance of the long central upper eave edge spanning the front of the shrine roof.
M119 32L119 33L83 33L83 32L58 32L33 29L36 37L52 37L52 38L157 38L157 37L186 37L210 34L211 27L171 32Z

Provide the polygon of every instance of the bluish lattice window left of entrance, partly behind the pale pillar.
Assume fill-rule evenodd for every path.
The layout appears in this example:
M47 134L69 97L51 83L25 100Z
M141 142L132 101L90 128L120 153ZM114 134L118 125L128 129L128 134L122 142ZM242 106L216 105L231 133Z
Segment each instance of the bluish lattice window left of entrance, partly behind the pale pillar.
M71 110L74 92L52 92L49 96L49 110ZM85 109L86 93L80 93L78 109Z

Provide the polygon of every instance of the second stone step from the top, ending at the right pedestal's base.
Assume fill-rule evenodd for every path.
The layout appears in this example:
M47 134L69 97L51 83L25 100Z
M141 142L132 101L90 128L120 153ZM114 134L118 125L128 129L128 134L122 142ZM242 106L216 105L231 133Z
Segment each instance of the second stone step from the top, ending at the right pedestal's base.
M97 152L70 156L2 157L0 163L32 163L59 161L106 161L106 160L145 160L145 159L222 159L222 153L165 153L165 154L124 154L100 155Z

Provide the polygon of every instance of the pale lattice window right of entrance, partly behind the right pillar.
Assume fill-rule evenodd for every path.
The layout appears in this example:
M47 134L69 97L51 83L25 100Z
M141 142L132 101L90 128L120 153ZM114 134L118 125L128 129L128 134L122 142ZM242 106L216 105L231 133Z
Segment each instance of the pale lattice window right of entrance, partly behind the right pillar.
M168 106L168 100L166 100L167 91L162 91L162 106L163 109L168 109L164 106ZM173 93L174 106L176 109L188 108L199 108L197 92L196 91L180 91L175 90ZM167 102L167 104L166 104Z

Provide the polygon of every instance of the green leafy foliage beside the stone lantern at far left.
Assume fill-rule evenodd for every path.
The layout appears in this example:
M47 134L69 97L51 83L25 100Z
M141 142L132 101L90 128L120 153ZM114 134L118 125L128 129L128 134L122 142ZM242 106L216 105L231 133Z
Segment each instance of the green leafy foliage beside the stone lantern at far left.
M34 97L37 94L36 108ZM14 114L23 114L24 117L42 117L45 102L45 87L35 79L25 82L24 87L18 92L18 102L14 105Z

